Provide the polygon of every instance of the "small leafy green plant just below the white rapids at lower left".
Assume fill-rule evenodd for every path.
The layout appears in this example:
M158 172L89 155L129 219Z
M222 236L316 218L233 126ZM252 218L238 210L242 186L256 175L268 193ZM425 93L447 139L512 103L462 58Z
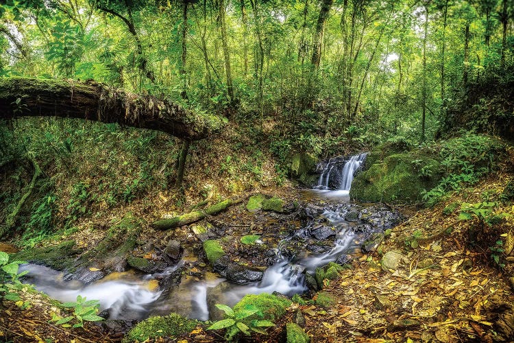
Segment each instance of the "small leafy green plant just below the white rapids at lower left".
M73 324L74 328L84 327L84 320L88 322L98 322L103 320L103 318L97 316L99 311L100 302L98 300L86 300L86 297L82 297L80 295L77 296L77 301L73 303L61 303L62 307L70 307L73 308L73 314L71 316L61 317L57 314L53 314L51 321L56 322L57 325L62 325L62 327L72 327L70 322L75 322Z

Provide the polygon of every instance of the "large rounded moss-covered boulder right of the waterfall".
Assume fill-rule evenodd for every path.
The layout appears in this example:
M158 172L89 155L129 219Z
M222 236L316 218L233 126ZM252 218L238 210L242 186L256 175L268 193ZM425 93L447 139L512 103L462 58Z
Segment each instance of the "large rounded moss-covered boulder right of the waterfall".
M363 202L416 202L441 178L438 161L410 153L393 154L358 174L350 197Z

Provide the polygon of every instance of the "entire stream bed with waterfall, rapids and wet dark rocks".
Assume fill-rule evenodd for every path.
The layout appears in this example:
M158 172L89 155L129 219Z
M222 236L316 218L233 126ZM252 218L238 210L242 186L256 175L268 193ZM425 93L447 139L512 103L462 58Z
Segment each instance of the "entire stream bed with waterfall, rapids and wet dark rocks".
M116 320L141 320L172 312L198 320L217 319L210 316L215 304L232 307L246 294L304 294L309 289L306 273L314 275L316 268L329 262L345 264L362 255L361 249L371 250L369 245L374 246L385 229L400 221L400 215L385 206L350 202L348 191L365 156L332 158L319 166L318 185L302 192L308 219L292 235L276 242L273 263L258 282L240 285L204 268L198 276L182 276L178 285L159 285L159 280L182 270L184 259L159 273L117 272L90 283L70 280L73 275L42 265L21 265L20 270L29 272L27 283L51 298L62 302L74 301L78 295L98 299L103 316ZM321 208L320 203L325 206ZM277 218L269 220L276 222ZM310 238L316 244L295 244ZM196 259L191 255L187 258Z

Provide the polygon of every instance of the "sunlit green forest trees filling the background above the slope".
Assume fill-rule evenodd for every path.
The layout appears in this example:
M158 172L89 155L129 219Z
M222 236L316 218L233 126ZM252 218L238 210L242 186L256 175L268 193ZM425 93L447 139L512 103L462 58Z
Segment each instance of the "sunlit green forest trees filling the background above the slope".
M284 145L315 152L341 137L434 139L458 122L511 133L502 108L461 115L478 102L469 94L512 82L511 0L2 2L3 77L95 80L271 119L294 137Z

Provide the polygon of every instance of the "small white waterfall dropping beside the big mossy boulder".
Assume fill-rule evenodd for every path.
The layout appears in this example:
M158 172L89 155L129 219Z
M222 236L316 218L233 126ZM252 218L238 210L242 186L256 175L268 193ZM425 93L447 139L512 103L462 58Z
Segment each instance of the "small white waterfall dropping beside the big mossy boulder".
M330 189L339 191L350 191L354 173L363 164L367 152L351 156L349 159L334 157L328 160L319 175L318 184L314 189L328 191Z

